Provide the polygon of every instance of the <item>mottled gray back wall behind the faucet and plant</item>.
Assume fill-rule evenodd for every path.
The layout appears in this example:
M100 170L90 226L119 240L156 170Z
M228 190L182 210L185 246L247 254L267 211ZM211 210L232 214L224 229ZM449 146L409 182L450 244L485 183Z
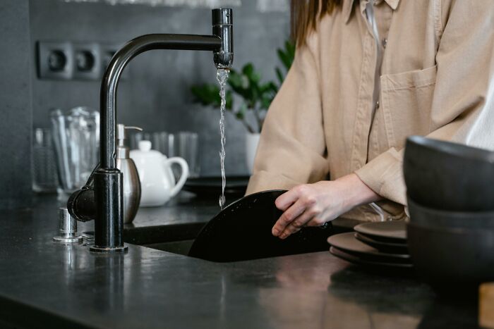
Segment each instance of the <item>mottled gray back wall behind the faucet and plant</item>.
M243 0L234 8L235 65L252 61L265 78L274 78L278 64L276 48L288 35L289 13L260 13L256 1ZM210 9L170 8L142 5L64 3L59 0L30 1L31 42L38 40L125 42L146 33L210 34ZM35 62L35 51L31 53ZM33 68L35 66L33 65ZM142 54L126 68L121 81L118 120L145 130L195 130L200 135L203 175L219 173L219 111L193 104L189 86L215 82L212 54L195 51L152 51ZM100 82L39 80L32 75L35 127L49 126L49 108L99 107ZM247 172L243 143L245 130L227 118L226 170Z

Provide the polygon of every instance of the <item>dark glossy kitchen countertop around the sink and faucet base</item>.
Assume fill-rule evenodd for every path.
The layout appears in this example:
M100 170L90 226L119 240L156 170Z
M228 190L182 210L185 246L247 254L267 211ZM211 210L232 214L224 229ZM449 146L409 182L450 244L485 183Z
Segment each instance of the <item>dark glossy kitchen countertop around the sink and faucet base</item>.
M0 328L472 328L413 277L368 273L329 252L213 263L128 244L125 255L55 244L56 202L0 216ZM181 194L126 229L205 223L215 199ZM342 225L349 225L342 223ZM92 223L79 225L91 230Z

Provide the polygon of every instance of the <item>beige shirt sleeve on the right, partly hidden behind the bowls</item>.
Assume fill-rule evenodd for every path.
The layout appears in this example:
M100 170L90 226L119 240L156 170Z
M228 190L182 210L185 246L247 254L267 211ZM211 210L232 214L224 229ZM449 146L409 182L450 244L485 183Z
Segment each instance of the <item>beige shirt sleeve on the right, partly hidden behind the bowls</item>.
M447 1L426 137L494 149L494 2ZM406 204L404 150L389 149L356 170L381 197Z

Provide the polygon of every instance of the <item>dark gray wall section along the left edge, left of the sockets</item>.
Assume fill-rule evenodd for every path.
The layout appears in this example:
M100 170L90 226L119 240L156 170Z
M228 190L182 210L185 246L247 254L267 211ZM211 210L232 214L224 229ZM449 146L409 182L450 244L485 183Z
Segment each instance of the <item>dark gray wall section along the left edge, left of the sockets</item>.
M28 0L0 1L0 209L30 206Z

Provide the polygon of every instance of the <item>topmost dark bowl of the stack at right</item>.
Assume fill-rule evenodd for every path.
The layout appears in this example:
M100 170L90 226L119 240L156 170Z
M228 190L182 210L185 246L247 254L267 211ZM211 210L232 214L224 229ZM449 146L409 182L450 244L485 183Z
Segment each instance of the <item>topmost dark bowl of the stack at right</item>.
M434 209L494 211L494 152L412 136L404 154L406 189Z

